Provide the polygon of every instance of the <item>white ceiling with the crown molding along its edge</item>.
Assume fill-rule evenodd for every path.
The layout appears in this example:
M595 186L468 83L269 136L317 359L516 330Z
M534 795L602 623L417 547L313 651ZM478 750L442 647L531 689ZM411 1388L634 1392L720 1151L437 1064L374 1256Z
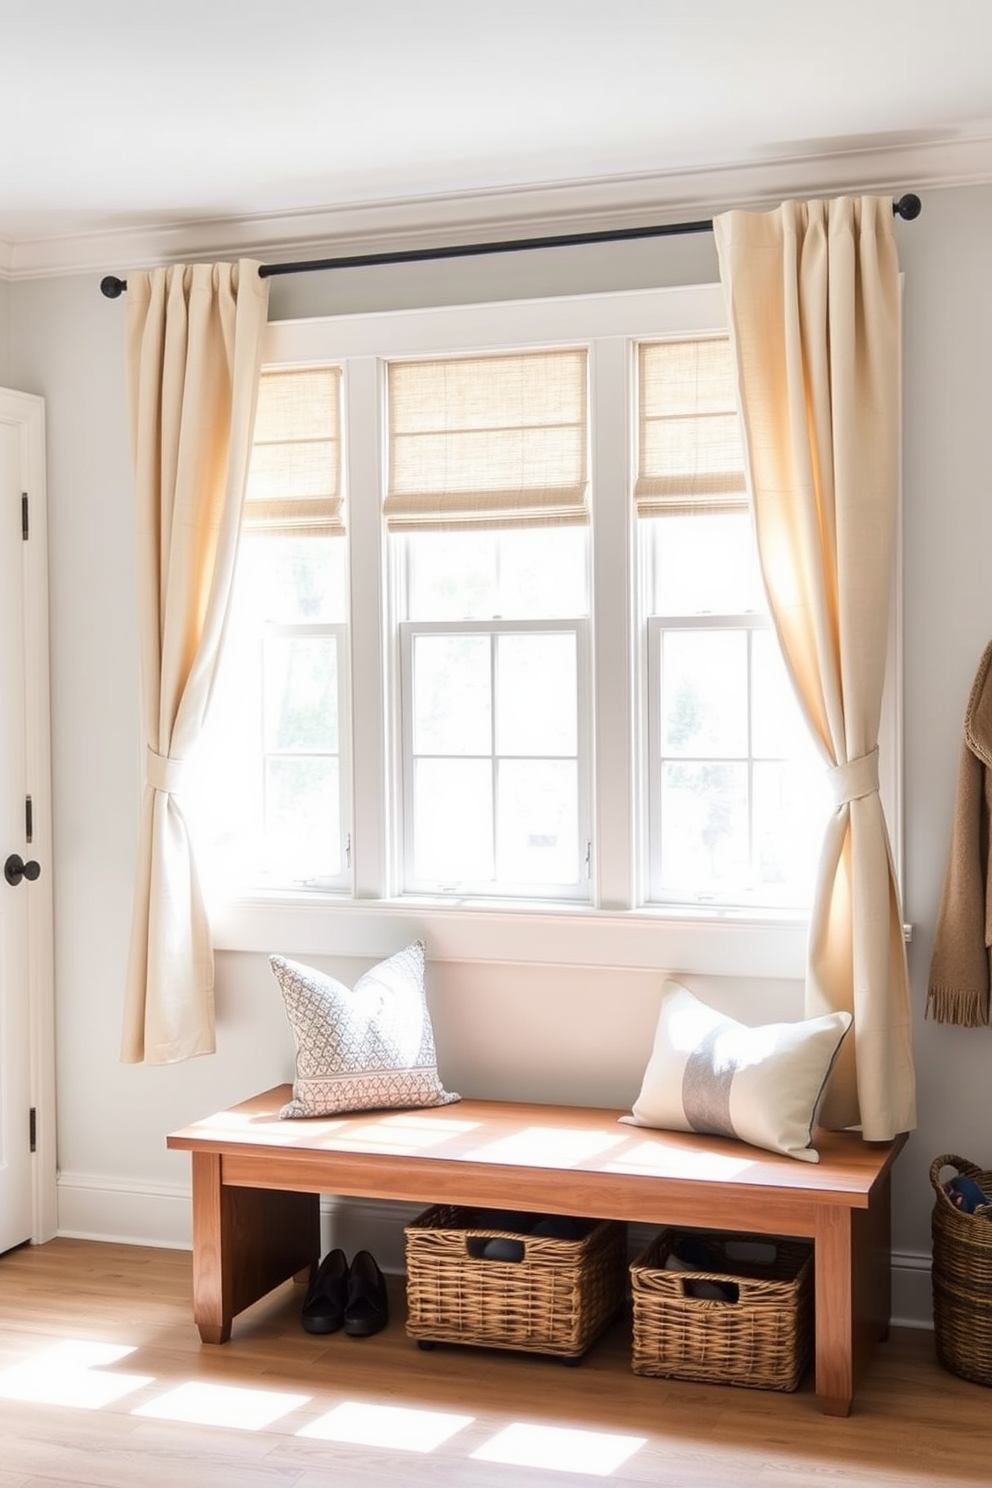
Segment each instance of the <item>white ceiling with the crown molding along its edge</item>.
M583 183L720 199L730 168L992 179L992 0L0 0L0 272Z

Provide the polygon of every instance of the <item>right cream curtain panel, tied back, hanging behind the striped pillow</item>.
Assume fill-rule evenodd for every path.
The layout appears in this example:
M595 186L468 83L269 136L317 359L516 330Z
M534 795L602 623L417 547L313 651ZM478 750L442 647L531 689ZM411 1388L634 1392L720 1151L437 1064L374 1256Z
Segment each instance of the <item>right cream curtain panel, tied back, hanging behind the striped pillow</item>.
M806 1004L854 1039L822 1119L873 1141L915 1125L900 894L879 799L900 446L898 263L889 198L785 202L714 222L761 571L830 766Z

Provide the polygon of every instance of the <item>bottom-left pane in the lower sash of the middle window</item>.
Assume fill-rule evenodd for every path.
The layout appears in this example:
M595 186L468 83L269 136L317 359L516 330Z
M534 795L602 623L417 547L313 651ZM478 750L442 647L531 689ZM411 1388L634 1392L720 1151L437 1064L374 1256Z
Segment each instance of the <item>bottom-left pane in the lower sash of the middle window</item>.
M413 765L413 875L460 884L492 879L492 765L418 759Z

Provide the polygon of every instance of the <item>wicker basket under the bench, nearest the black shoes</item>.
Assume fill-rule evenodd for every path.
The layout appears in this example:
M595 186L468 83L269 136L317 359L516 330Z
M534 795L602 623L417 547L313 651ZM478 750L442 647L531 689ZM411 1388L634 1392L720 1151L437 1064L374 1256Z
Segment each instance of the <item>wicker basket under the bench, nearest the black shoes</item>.
M580 1240L477 1229L434 1205L406 1226L406 1332L421 1347L477 1344L579 1359L620 1311L626 1226L589 1220ZM492 1240L519 1260L482 1254Z

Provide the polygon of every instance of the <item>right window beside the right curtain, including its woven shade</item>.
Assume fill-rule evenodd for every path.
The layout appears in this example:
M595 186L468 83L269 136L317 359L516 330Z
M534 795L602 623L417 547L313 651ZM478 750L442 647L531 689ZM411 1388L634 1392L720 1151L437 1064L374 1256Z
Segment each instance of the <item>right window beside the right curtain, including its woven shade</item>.
M761 594L726 336L641 342L648 897L802 906L830 809Z

